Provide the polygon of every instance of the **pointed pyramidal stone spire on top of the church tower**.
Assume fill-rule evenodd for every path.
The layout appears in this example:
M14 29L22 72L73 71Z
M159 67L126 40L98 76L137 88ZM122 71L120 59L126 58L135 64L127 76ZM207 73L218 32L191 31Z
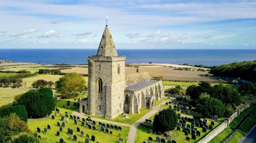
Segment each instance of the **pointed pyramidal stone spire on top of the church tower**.
M108 29L108 25L106 25L102 34L97 56L118 56L115 44Z

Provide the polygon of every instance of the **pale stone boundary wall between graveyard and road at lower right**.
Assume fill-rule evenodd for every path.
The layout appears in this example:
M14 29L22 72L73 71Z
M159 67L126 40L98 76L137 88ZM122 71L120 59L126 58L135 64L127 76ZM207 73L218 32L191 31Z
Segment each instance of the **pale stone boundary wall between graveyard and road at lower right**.
M209 134L207 134L204 138L199 140L197 143L208 143L210 140L213 139L213 137L215 137L220 132L222 132L238 115L240 115L241 112L244 112L245 109L251 107L255 103L256 103L256 100L250 102L249 104L245 105L241 109L237 109L236 112L230 116L230 118L227 118L226 121L224 121L215 129L213 129L211 132L209 132Z

